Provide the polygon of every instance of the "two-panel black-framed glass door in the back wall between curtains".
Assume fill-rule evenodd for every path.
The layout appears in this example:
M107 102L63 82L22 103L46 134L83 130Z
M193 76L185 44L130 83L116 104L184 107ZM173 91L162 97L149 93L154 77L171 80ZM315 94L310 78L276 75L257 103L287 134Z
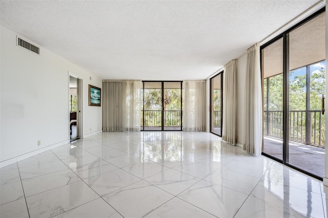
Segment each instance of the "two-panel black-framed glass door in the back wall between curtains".
M142 83L141 130L181 130L182 82Z

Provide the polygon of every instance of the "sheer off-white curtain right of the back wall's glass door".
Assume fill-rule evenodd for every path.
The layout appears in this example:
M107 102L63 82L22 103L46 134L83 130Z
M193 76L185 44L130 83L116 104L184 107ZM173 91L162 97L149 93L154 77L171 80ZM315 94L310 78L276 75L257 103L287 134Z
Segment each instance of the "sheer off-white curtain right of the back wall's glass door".
M205 131L206 80L183 80L183 131Z

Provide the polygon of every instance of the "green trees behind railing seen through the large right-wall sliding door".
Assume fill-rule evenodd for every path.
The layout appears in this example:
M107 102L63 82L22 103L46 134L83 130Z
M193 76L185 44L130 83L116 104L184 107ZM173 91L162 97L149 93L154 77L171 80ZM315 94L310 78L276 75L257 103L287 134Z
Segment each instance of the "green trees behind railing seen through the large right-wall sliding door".
M290 139L305 142L306 120L306 67L289 73L289 124ZM279 137L282 133L283 77L278 74L269 78L269 105L267 105L268 78L264 79L264 125L267 125L267 107L269 107L270 130L264 134ZM321 115L321 95L325 93L325 62L310 66L310 131L311 144L324 145L324 116ZM319 135L321 133L321 136ZM320 141L320 143L319 143Z

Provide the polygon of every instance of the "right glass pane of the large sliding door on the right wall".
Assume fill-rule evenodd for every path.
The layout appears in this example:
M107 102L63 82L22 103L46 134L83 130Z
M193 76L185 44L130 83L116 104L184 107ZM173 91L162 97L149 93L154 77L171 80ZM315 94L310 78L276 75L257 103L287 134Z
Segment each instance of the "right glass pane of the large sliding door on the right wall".
M325 13L289 34L289 164L324 176Z

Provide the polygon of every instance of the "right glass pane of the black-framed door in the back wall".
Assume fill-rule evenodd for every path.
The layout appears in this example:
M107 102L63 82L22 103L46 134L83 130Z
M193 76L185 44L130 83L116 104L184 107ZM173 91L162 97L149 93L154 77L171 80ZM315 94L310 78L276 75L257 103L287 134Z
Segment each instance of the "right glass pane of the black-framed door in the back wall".
M181 82L164 82L164 130L181 130Z

